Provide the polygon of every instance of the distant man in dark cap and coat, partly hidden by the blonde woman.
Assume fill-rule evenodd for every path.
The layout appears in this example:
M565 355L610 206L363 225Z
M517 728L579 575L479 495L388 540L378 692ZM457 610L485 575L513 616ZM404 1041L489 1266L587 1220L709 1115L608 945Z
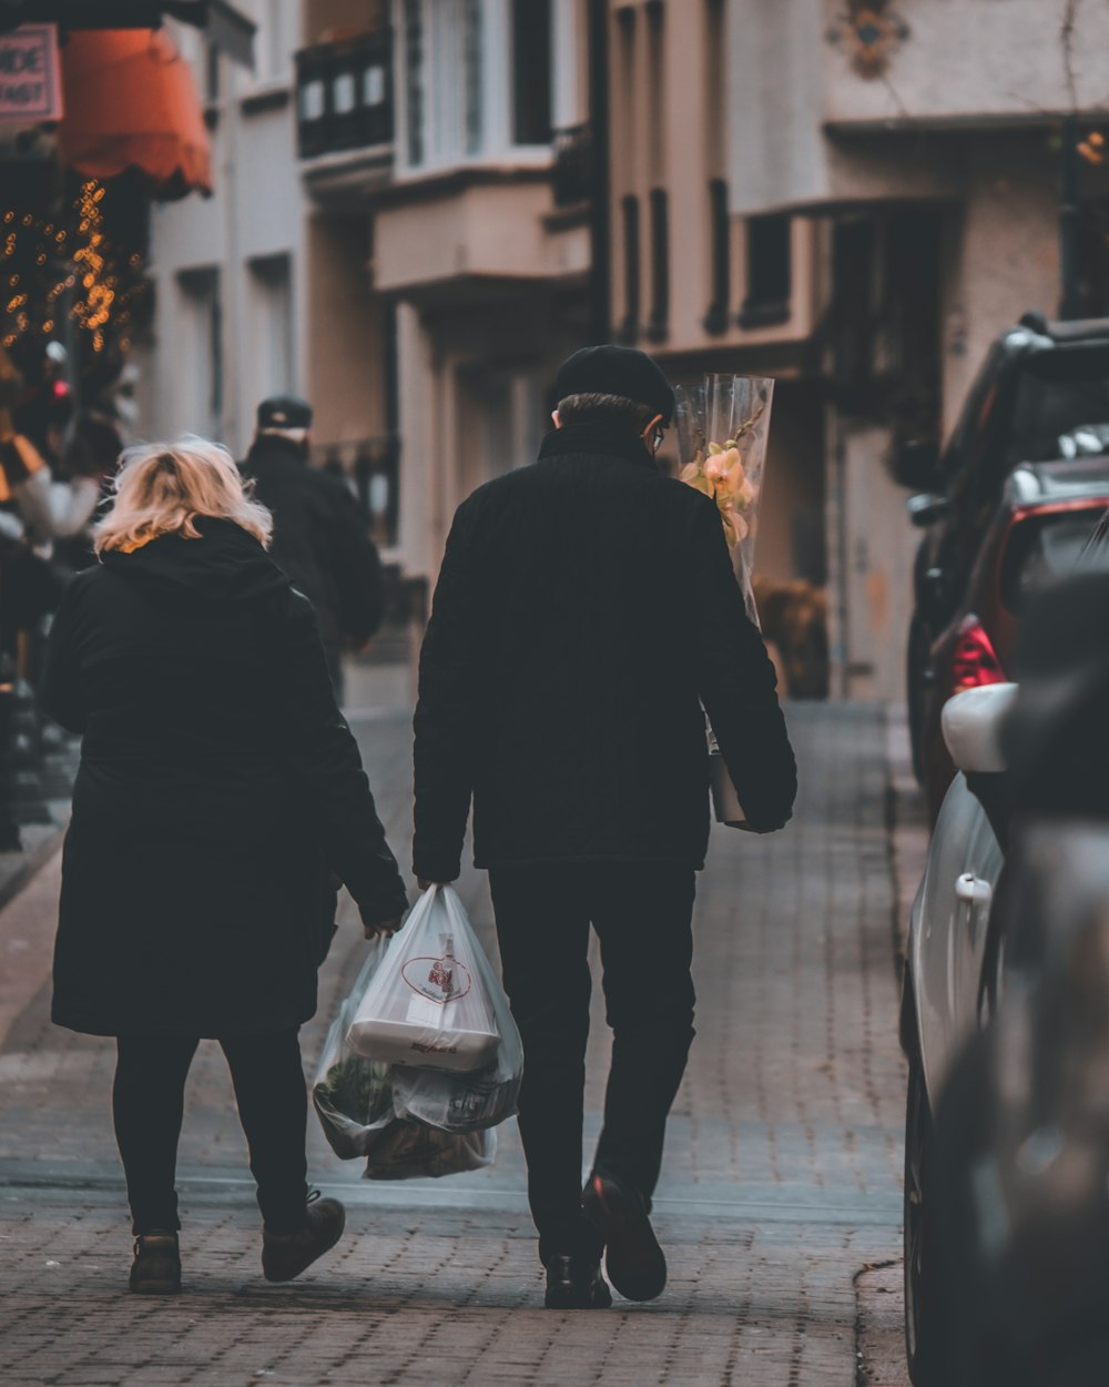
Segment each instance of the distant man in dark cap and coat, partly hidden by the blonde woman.
M362 648L380 627L384 580L362 506L340 480L309 466L311 427L306 399L263 399L243 472L273 512L273 558L316 609L341 698L342 651Z

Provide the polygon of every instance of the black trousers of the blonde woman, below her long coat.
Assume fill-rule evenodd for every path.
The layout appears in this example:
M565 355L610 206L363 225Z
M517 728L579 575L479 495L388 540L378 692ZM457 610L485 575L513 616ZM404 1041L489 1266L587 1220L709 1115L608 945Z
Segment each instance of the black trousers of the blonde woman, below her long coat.
M195 1036L173 1035L116 1042L112 1111L136 1233L180 1227L177 1139L184 1080L198 1044ZM297 1031L227 1036L219 1044L232 1071L265 1226L272 1233L295 1232L308 1198L308 1093Z

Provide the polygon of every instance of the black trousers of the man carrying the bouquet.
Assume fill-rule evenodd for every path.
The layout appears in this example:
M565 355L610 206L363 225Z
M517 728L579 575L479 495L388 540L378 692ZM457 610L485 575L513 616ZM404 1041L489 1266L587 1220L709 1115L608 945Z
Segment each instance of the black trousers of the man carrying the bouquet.
M520 1135L543 1262L599 1255L581 1216L589 925L600 940L613 1056L593 1169L650 1200L693 1040L689 867L554 864L489 871L505 990L524 1040Z

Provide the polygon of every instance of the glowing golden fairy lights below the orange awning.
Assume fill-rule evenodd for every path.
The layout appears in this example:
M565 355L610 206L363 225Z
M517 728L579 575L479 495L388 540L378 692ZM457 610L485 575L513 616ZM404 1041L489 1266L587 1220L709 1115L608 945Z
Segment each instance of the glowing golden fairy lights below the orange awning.
M121 264L104 226L105 194L97 179L82 183L68 225L12 209L0 214L0 345L6 350L28 333L50 337L62 313L87 333L94 352L104 351L110 327L123 351L130 345L128 300L141 284L141 257L125 255Z

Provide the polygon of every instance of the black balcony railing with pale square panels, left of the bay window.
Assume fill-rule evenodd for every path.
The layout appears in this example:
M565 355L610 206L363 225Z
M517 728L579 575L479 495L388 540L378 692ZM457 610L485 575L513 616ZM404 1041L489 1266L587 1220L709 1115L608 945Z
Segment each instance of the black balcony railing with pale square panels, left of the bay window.
M297 54L302 160L392 143L392 37L387 29Z

